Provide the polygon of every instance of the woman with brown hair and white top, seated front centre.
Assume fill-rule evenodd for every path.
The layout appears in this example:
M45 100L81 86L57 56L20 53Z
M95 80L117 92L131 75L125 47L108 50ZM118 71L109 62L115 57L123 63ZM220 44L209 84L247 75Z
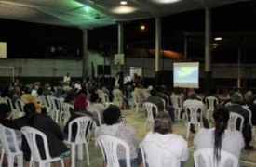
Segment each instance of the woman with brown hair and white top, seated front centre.
M179 160L176 167L183 167L184 161L189 157L187 142L181 135L174 133L171 118L165 112L159 112L155 116L154 130L144 137L141 142L143 144L154 144L161 149L162 167L170 166L171 156Z

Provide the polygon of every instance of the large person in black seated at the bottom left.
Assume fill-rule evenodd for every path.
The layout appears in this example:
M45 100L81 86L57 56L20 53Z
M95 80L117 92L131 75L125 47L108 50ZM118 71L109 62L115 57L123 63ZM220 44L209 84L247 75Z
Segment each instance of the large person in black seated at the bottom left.
M60 126L54 122L42 109L42 114L36 112L33 103L27 103L24 106L25 116L15 120L7 120L6 118L0 118L1 124L9 128L20 130L23 126L32 126L35 129L42 131L47 135L49 144L49 152L52 157L62 157L64 159L65 167L70 166L70 150L62 142L64 139ZM23 151L25 164L24 167L28 167L31 158L30 148L25 137L22 135L21 149ZM43 150L40 150L43 151ZM43 154L42 154L43 155ZM54 163L57 167L58 162Z

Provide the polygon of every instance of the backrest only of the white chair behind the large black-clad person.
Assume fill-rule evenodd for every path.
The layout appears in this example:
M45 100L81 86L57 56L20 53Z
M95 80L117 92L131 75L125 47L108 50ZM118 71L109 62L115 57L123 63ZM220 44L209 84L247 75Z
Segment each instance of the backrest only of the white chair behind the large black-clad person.
M32 153L32 157L33 157L34 161L39 162L42 160L52 160L52 158L49 155L47 136L44 133L42 133L41 131L39 131L33 127L29 127L29 126L23 126L21 128L21 133L23 135L25 135L25 137L27 139L27 142L31 149L31 153ZM39 152L39 147L37 144L37 141L39 138L41 138L43 141L43 148L45 150L46 159L41 158L41 155Z

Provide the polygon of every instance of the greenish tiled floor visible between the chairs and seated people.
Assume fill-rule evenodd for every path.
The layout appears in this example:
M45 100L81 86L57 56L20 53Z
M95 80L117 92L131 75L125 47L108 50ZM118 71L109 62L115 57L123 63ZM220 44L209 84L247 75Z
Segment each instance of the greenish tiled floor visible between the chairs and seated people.
M122 110L123 115L126 117L128 123L130 123L136 130L137 135L140 139L144 136L144 121L145 117L142 109L139 109L139 113L136 113L135 110ZM182 135L185 137L186 129L185 129L185 121L178 121L174 125L174 131L178 135ZM92 135L93 136L93 135ZM194 151L193 148L193 138L195 134L190 134L189 139L187 140L189 150L190 150L190 158L185 163L185 167L193 167L194 161L192 157L192 153ZM243 151L242 157L240 160L241 167L256 167L256 142L252 141L251 145L255 146L255 150L252 151ZM90 166L91 167L101 167L102 158L101 158L101 150L98 146L94 145L94 141L90 141L89 143L89 158L90 158ZM86 159L86 154L84 154L84 160L80 161L76 159L76 167L86 167L88 166L88 162Z

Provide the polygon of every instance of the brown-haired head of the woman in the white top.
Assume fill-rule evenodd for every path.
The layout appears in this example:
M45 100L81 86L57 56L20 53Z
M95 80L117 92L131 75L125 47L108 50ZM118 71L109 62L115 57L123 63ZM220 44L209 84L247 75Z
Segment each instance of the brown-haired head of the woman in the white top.
M155 116L154 132L162 135L172 133L172 122L168 113L159 112Z

